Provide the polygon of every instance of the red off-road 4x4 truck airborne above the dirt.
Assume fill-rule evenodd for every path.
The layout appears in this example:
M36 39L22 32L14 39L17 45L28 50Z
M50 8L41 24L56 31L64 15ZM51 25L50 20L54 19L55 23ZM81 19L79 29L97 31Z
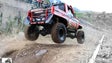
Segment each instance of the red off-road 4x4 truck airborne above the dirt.
M79 44L83 44L85 40L83 27L76 18L72 6L59 0L47 0L41 8L29 10L25 23L28 24L25 28L25 37L30 41L35 41L40 34L51 34L55 43L63 43L66 37L77 38Z

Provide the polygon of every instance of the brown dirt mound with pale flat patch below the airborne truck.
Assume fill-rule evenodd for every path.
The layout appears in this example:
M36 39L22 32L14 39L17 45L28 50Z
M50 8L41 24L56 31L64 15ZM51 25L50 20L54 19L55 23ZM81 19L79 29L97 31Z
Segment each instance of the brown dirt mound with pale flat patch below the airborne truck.
M35 44L27 45L25 48L16 51L15 53L11 54L9 57L13 58L14 63L24 63L24 62L43 63L43 61L46 62L48 61L47 59L51 59L55 57L56 54L59 53L61 48L66 48L67 46L72 47L70 45L55 45L55 44L45 45L45 44L35 43ZM42 58L44 59L42 60Z

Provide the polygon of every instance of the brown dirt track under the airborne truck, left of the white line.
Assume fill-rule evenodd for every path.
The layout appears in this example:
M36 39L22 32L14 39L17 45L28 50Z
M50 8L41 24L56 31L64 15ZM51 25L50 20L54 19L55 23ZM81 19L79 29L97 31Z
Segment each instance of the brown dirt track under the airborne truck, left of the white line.
M101 38L101 33L97 30L92 29L91 27L85 27L84 30L86 32L86 42L83 45L79 45L76 39L72 40L69 38L64 44L54 44L50 39L50 36L40 37L35 42L29 42L25 40L24 34L21 32L14 38L6 38L2 40L0 47L0 50L2 51L1 54L3 55L3 53L10 51L12 52L12 50L19 50L11 55L8 55L9 57L13 58L15 63L19 63L18 61L23 61L22 59L25 59L28 62L31 61L32 59L28 57L30 56L32 58L35 58L35 52L38 50L46 50L47 53L45 53L44 56L37 56L37 59L42 59L41 61L39 59L39 62L41 63L87 63L98 44L98 40ZM23 47L25 48L22 49ZM21 63L24 62L26 61L23 61ZM38 61L32 61L32 63L37 62Z

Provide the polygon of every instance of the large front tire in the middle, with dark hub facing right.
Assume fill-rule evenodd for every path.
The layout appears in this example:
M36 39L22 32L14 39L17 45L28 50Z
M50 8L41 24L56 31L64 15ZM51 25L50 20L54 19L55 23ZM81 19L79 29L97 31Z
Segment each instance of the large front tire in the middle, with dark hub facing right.
M63 43L66 40L66 27L63 23L56 23L51 30L51 37L55 43Z

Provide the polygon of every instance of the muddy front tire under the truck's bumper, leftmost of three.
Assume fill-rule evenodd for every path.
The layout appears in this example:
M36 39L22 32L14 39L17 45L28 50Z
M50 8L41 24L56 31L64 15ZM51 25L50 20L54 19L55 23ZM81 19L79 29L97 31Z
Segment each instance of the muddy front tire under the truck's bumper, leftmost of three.
M35 25L26 26L24 33L25 38L30 41L35 41L39 37L39 29Z

